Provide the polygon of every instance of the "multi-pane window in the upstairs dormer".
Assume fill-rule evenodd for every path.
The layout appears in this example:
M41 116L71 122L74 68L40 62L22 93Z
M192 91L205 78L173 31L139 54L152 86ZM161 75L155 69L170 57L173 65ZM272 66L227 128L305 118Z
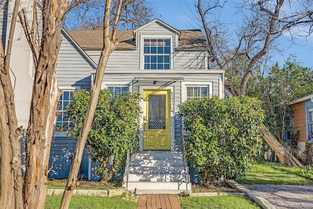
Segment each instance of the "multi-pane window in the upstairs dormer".
M143 55L145 70L169 70L171 39L144 39Z

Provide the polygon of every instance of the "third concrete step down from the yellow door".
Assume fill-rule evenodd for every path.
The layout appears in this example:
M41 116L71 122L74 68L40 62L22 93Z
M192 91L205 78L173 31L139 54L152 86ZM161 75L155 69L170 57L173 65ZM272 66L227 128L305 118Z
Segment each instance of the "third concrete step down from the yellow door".
M138 174L182 174L184 173L183 166L131 166L130 173L138 173Z

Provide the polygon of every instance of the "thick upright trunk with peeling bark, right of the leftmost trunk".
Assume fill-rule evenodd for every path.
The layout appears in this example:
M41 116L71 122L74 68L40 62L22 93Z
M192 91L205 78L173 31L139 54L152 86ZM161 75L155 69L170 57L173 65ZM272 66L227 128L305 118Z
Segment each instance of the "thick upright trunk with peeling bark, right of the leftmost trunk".
M62 20L70 2L71 0L45 0L43 5L42 43L26 133L26 173L23 185L25 209L45 207L53 122L58 98L61 95L55 71L62 42ZM30 47L34 46L30 44Z

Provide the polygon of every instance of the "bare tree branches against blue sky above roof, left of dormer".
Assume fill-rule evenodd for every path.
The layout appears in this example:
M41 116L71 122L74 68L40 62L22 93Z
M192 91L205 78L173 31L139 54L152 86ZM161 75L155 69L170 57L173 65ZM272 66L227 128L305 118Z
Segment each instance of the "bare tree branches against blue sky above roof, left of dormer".
M118 0L112 0L110 25L114 23ZM86 0L75 7L64 20L66 29L93 30L103 28L105 0ZM149 23L156 16L156 9L147 0L124 0L118 29L135 29Z

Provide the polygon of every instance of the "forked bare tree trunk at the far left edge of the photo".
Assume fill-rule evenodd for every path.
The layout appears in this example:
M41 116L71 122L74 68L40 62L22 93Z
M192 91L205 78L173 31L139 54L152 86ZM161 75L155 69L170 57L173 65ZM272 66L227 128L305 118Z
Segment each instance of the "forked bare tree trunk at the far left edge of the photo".
M0 206L15 209L22 209L21 145L19 142L22 127L18 127L15 113L9 66L19 5L20 0L16 0L6 54L0 42Z

